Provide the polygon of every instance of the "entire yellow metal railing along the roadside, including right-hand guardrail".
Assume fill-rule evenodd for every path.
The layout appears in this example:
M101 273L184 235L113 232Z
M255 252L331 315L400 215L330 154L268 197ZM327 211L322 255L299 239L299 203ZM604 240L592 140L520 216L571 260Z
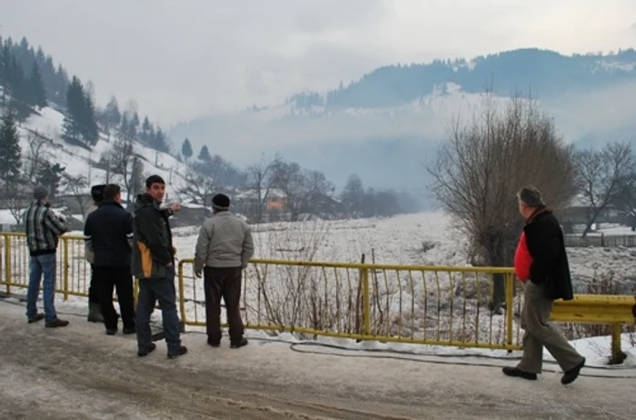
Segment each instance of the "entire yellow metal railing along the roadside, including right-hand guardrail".
M25 234L0 234L0 285L7 294L28 287ZM61 250L61 252L60 252ZM82 236L64 235L57 253L56 292L88 296L90 265ZM178 267L185 325L205 325L204 281L193 260ZM504 285L504 315L489 310L495 279ZM137 295L137 284L134 295ZM381 342L521 349L522 284L512 268L370 265L253 259L243 272L247 328ZM621 326L632 325L632 296L575 295L555 301L552 319L612 325L612 359L622 360Z

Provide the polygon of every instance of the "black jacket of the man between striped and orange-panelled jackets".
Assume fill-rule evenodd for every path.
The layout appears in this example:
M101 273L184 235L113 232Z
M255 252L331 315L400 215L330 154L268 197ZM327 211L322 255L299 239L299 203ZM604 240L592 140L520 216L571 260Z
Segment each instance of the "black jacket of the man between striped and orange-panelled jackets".
M84 240L94 252L94 266L130 265L133 215L113 200L102 202L86 219Z

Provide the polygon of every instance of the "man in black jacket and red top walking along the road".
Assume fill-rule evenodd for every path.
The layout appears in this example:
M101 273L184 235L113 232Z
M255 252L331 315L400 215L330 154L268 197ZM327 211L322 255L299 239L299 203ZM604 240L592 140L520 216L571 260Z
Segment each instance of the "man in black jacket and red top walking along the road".
M579 355L549 323L554 300L573 298L561 225L535 187L522 188L517 197L525 226L515 258L518 265L515 271L522 276L529 274L531 281L524 292L522 360L515 367L504 367L503 373L536 379L537 374L542 372L545 346L564 372L561 384L568 385L579 376L585 357ZM526 248L529 255L525 252Z

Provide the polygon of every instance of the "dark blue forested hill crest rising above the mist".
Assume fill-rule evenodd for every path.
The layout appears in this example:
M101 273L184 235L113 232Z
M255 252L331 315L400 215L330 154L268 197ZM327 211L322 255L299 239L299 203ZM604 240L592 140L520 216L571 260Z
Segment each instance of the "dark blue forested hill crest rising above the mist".
M387 65L340 85L326 95L304 92L293 95L296 107L387 107L429 95L446 83L467 93L492 88L500 95L532 91L543 98L577 90L591 90L625 80L636 80L633 48L601 55L561 55L537 48L517 49L478 56L470 61L434 60L428 64Z

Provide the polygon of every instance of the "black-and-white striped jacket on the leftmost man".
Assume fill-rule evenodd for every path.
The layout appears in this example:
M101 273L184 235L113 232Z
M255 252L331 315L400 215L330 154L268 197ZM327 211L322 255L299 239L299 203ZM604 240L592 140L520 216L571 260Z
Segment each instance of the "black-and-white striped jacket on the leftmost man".
M35 200L25 211L26 244L32 256L55 254L59 236L68 230L48 203Z

